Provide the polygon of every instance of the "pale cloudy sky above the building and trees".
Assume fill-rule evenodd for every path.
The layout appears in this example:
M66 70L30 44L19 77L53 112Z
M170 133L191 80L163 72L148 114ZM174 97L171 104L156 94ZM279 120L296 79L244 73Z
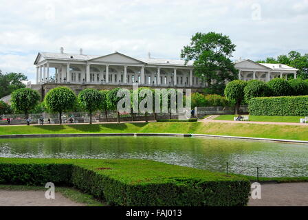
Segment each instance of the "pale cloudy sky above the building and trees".
M308 0L0 0L0 69L35 78L38 52L179 58L195 32L221 32L234 58L308 53Z

